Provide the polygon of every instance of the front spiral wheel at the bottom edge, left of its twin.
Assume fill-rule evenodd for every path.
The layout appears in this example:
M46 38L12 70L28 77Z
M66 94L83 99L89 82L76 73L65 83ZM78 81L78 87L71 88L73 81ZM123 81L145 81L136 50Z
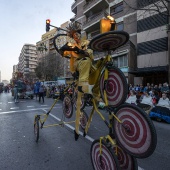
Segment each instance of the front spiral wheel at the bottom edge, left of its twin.
M91 145L91 161L95 170L118 170L120 169L119 161L113 150L102 141L100 155L100 141L95 140Z

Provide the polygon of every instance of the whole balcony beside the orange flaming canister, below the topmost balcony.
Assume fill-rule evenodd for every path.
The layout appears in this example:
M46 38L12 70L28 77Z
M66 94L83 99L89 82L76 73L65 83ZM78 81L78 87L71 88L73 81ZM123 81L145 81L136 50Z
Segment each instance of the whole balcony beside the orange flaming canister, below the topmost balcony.
M106 16L106 11L102 11L88 17L86 22L83 23L83 30L86 32L98 30L100 28L100 20Z

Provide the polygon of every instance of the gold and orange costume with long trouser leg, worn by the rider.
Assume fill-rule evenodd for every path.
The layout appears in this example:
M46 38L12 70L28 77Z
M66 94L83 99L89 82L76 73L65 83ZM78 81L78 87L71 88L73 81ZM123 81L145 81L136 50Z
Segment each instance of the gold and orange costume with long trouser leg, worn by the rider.
M88 40L83 40L80 43L71 44L72 47L77 46L80 50L83 50L84 53L77 53L74 51L64 51L63 57L70 58L70 71L74 73L79 72L78 79L78 94L77 94L77 110L76 110L76 121L75 121L75 140L79 136L79 124L80 124L80 115L81 115L81 98L84 93L91 93L89 88L89 74L92 67L93 60L93 51L87 49L89 44ZM81 90L79 90L81 89ZM77 138L76 138L77 135Z

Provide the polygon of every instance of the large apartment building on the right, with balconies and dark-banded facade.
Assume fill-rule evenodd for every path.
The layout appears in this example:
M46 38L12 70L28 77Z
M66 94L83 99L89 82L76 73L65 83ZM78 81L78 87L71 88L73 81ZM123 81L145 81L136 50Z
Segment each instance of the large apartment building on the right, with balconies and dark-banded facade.
M168 79L168 38L165 29L168 21L166 17L162 19L157 12L141 10L150 8L150 2L75 0L71 6L75 14L72 19L82 23L82 34L88 39L100 33L100 19L108 14L115 18L117 30L129 33L129 42L112 53L114 65L124 72L129 84L163 83ZM104 55L97 51L94 54L95 59ZM162 75L164 78L161 78Z

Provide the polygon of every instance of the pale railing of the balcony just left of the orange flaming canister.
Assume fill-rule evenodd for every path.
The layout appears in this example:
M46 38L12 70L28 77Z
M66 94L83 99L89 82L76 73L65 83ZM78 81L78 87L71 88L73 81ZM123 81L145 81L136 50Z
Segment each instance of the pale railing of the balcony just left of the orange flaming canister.
M91 27L94 23L101 20L101 18L106 17L106 11L99 12L87 18L87 21L83 23L83 28L86 30L87 27Z

